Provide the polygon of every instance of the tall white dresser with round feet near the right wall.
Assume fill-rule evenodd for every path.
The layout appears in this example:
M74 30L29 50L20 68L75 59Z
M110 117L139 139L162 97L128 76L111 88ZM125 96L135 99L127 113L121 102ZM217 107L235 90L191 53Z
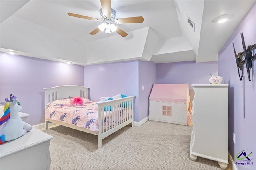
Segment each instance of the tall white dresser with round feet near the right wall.
M192 84L193 131L190 158L197 156L228 166L228 84Z

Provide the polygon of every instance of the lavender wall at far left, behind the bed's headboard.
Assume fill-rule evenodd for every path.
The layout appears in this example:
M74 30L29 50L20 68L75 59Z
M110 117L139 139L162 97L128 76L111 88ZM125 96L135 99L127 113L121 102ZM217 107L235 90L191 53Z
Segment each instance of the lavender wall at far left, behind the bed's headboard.
M30 114L27 122L31 125L43 123L43 88L83 86L83 71L84 66L0 53L0 102L14 94L23 107L22 112Z

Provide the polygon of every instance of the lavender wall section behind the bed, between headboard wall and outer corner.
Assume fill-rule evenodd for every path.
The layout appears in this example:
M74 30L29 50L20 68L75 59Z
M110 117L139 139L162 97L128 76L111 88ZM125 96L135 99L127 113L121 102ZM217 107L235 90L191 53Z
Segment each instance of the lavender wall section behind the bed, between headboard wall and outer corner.
M84 66L84 86L89 87L92 101L102 96L125 94L136 96L134 121L139 120L139 64L138 60Z

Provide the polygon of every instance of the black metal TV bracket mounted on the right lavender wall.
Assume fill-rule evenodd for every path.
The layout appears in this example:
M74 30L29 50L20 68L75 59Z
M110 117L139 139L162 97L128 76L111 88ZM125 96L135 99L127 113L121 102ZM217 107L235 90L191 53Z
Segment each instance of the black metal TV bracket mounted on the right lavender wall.
M244 35L243 33L241 33L241 38L242 38L242 45L243 45L243 52L238 53L238 55L236 54L236 50L234 47L234 43L233 43L233 48L234 48L234 53L235 53L235 57L236 57L236 65L237 65L237 69L238 69L238 75L240 77L240 72L239 69L242 71L242 75L240 78L240 81L243 78L243 74L244 74L244 70L243 70L243 64L246 64L246 70L247 70L247 75L249 78L249 81L251 81L250 78L250 72L251 72L251 68L252 68L252 61L254 59L256 59L256 53L254 55L252 55L252 51L254 49L256 49L256 44L254 45L249 45L246 49L245 43L244 43Z

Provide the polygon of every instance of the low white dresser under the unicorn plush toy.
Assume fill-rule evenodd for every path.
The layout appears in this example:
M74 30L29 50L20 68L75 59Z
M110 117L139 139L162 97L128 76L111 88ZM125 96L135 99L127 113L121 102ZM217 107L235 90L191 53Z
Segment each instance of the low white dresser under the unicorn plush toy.
M33 128L0 145L0 170L49 170L51 139L52 136Z

